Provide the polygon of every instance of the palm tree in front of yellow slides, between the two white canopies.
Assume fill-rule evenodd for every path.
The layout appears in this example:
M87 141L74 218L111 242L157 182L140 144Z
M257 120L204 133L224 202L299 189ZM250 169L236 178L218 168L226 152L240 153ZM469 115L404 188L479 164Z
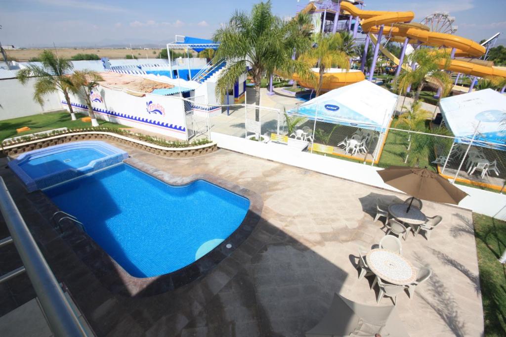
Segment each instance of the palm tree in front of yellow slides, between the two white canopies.
M442 66L443 69L448 68L450 61L450 55L445 51L428 48L415 50L404 59L404 63L416 63L416 68L412 71L401 73L395 83L399 94L406 93L407 88L410 86L415 87L416 94L414 100L417 101L426 81L431 81L448 94L451 90L451 76L446 71L440 71L440 67Z

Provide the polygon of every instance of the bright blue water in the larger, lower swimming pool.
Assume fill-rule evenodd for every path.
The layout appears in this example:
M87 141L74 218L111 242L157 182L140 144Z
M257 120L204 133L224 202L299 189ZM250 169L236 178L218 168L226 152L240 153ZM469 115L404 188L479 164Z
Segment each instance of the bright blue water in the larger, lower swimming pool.
M191 264L232 234L249 208L248 199L206 181L171 186L124 163L45 193L135 277Z

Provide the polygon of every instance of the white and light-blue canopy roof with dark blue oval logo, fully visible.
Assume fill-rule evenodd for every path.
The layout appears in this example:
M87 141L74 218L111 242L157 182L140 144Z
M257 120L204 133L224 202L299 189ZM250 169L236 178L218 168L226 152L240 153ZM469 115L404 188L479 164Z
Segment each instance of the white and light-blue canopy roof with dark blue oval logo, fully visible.
M316 97L291 113L329 123L379 131L387 128L397 95L363 80Z

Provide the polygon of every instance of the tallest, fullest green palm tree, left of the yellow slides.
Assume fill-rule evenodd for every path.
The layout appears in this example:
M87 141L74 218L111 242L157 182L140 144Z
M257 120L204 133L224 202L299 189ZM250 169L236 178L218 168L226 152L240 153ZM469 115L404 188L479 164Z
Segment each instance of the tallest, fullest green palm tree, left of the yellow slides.
M289 21L273 15L271 2L253 6L250 15L236 11L230 22L219 28L213 39L220 43L215 60L225 60L227 66L216 83L217 96L223 97L237 78L248 71L255 82L255 104L260 105L260 80L267 71L308 73L302 63L291 60L293 37ZM260 118L257 109L256 120Z

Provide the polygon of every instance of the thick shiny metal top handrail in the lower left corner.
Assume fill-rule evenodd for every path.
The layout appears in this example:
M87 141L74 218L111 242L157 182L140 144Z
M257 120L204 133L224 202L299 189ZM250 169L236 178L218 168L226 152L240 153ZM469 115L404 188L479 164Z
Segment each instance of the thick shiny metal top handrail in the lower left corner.
M57 337L87 336L30 234L2 177L0 177L0 210L51 331Z

